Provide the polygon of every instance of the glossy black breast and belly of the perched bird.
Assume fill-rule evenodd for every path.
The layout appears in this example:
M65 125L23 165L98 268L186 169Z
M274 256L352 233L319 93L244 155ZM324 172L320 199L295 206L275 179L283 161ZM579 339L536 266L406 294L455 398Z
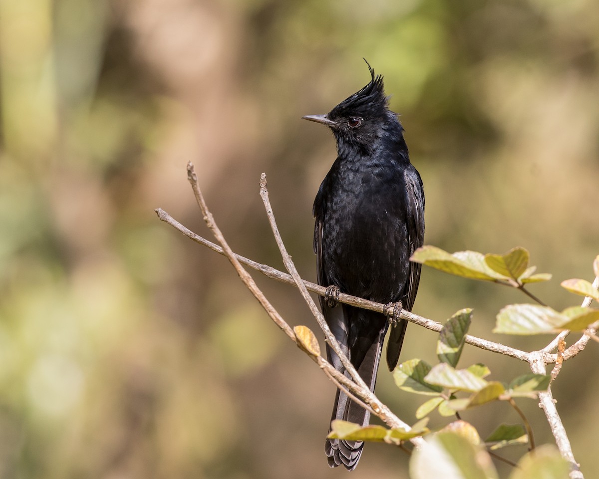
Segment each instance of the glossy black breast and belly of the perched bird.
M374 169L335 178L326 198L322 259L347 293L394 301L407 279L406 187L400 172Z

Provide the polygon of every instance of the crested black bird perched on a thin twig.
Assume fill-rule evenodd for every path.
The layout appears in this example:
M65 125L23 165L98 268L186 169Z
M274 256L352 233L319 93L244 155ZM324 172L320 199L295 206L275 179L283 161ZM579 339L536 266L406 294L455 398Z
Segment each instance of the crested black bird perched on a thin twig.
M367 62L368 65L368 62ZM328 114L303 118L328 126L337 141L337 159L314 200L314 253L317 277L328 295L320 305L331 331L364 381L374 390L383 339L389 370L395 368L407 322L399 320L416 298L420 265L410 262L424 237L424 191L410 163L403 127L389 110L383 77L371 81ZM391 317L360 308L335 308L339 291L385 304L395 303ZM401 302L401 304L400 304ZM389 308L391 309L391 308ZM395 320L394 320L395 319ZM349 377L337 355L326 354ZM368 425L370 413L337 390L331 420ZM326 439L329 466L358 464L364 442Z

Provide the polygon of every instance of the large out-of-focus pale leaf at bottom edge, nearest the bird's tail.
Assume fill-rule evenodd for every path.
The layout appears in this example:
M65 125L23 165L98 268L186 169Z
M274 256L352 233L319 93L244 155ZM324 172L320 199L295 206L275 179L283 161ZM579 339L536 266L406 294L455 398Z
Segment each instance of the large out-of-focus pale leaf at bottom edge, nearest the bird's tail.
M412 479L497 479L489 454L453 432L431 436L410 458Z

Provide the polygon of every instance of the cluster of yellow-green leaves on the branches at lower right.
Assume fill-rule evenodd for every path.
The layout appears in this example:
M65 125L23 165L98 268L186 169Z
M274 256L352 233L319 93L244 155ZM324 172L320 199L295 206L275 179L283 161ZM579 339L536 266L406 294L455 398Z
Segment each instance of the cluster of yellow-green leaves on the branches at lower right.
M599 321L599 310L573 306L558 312L528 292L528 284L550 280L551 275L536 273L536 266L529 265L530 254L525 248L513 248L505 254L482 254L477 251L447 253L437 247L424 246L415 251L411 260L464 278L513 287L522 290L537 302L504 307L497 314L494 329L497 333L534 335L585 331ZM599 276L599 256L595 259L593 268L595 275ZM599 291L586 280L565 280L561 286L576 295L587 296L599 302ZM416 436L428 436L426 446L416 451L410 462L410 473L416 479L441 477L434 474L443 474L443 471L449 470L456 471L455 477L459 478L497 478L488 451L530 444L530 449L534 451L522 457L510 479L567 477L568 463L555 448L534 448L532 429L515 403L516 398L537 398L539 392L544 392L549 387L551 375L530 373L502 382L488 380L491 371L482 363L466 368L457 367L472 317L472 310L465 308L447 320L437 340L438 364L432 366L416 358L395 368L393 377L401 390L429 396L416 410L418 422L412 429L388 429L383 426L362 428L337 420L332 422L329 438L401 444ZM524 425L502 424L482 441L476 428L461 420L459 414L495 401L509 402L522 417ZM434 411L443 417L456 416L458 420L433 432L426 425L429 414ZM441 462L431 461L431 454L435 458L442 458Z

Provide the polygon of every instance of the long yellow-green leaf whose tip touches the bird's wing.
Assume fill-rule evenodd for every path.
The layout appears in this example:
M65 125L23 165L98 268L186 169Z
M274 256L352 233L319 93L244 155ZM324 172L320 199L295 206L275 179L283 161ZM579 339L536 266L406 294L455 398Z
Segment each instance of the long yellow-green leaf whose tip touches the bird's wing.
M410 260L462 278L485 281L507 279L489 268L485 263L485 256L476 251L458 251L450 254L441 248L427 245L414 251Z

